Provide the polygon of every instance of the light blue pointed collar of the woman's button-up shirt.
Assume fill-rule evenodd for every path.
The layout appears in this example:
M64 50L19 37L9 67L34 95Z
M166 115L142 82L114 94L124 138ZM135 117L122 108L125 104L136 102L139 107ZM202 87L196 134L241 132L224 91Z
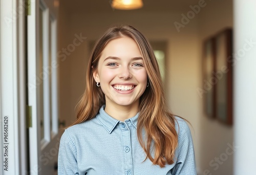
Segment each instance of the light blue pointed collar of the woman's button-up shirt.
M109 114L104 111L105 105L101 106L99 113L97 114L96 118L100 121L100 123L104 126L106 130L108 130L109 134L115 129L118 123L121 121L114 119ZM130 119L126 119L124 122L130 121L132 125L137 128L137 120L138 120L139 113L137 113L134 117Z

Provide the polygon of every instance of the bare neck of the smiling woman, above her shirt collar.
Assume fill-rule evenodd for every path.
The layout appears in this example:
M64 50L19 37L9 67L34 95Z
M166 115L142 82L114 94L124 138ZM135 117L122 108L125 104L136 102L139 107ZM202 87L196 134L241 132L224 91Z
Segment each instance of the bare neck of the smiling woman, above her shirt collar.
M139 104L131 105L110 105L106 103L105 110L111 117L124 121L126 119L134 117L139 112Z

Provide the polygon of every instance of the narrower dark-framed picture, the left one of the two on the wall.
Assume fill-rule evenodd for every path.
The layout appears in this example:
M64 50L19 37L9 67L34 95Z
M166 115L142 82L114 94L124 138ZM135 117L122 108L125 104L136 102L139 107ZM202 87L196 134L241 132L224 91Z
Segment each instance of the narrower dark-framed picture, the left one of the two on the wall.
M211 37L204 41L203 45L203 91L204 91L204 113L209 118L216 116L216 83L214 82L214 71L216 67L215 38Z

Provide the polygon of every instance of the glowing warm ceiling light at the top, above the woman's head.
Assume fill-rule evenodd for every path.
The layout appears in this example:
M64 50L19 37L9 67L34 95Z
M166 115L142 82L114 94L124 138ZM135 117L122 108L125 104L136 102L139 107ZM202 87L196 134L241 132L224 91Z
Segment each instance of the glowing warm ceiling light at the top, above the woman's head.
M142 0L113 0L112 8L118 10L134 10L143 7Z

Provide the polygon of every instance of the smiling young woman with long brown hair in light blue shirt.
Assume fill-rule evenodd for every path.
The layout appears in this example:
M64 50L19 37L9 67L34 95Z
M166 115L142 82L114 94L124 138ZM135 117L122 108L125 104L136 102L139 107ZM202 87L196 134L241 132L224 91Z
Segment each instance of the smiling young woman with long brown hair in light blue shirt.
M189 127L168 111L153 49L134 27L110 28L93 48L58 174L196 174Z

